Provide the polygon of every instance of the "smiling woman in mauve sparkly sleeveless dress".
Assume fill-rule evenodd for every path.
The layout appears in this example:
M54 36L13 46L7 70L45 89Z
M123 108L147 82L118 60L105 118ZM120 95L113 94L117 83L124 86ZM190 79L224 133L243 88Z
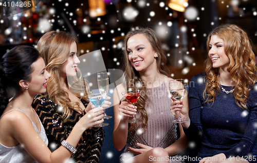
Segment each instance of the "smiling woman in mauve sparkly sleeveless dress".
M187 147L181 125L177 139L175 118L169 111L169 69L160 40L151 28L131 30L124 39L126 85L114 92L114 147L125 147L121 162L181 162L177 155ZM141 83L141 96L136 106L122 99L121 92ZM187 103L187 98L183 99ZM118 104L117 104L118 103ZM136 115L141 123L128 123ZM126 159L127 155L133 155ZM171 158L169 156L172 156ZM152 158L151 158L152 157Z

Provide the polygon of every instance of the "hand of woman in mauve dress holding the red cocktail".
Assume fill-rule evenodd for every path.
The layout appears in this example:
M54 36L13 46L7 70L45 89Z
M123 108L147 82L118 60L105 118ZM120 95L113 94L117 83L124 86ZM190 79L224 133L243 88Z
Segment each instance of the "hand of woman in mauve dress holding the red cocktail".
M119 112L121 119L128 121L128 118L134 117L137 114L137 106L134 106L131 103L122 101L119 105Z

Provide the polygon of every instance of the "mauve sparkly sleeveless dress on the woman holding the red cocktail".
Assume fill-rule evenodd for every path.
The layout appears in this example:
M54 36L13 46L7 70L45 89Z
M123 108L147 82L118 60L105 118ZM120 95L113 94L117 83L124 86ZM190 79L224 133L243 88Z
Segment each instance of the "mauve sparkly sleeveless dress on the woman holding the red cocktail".
M120 162L130 162L125 157L128 155L128 147L139 149L138 143L145 144L153 148L166 148L177 140L177 125L173 122L175 117L171 114L171 98L165 82L160 86L147 89L148 100L145 103L145 110L148 114L147 129L143 130L141 126L128 132L127 142L124 153L120 157ZM139 115L137 115L139 118ZM170 162L181 163L178 155L172 156Z

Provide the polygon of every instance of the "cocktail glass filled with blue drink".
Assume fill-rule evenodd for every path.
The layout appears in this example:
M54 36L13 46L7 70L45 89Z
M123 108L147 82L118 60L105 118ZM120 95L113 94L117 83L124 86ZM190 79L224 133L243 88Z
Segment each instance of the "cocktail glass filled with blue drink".
M101 107L107 96L108 94L90 94L88 95L88 99L96 107ZM100 123L98 125L95 125L94 127L100 128L107 125L109 125L109 123Z

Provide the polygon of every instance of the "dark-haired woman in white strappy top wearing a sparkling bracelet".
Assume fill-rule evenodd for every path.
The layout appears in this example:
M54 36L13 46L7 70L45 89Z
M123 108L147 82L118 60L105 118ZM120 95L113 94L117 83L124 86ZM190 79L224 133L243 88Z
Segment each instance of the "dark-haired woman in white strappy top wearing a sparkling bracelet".
M44 127L31 103L35 94L46 92L50 74L39 52L29 46L17 46L0 62L0 162L64 162L79 142L82 133L101 123L103 116L90 111L95 120L84 116L62 146L51 153ZM8 101L9 88L14 96ZM95 112L103 113L102 108Z

